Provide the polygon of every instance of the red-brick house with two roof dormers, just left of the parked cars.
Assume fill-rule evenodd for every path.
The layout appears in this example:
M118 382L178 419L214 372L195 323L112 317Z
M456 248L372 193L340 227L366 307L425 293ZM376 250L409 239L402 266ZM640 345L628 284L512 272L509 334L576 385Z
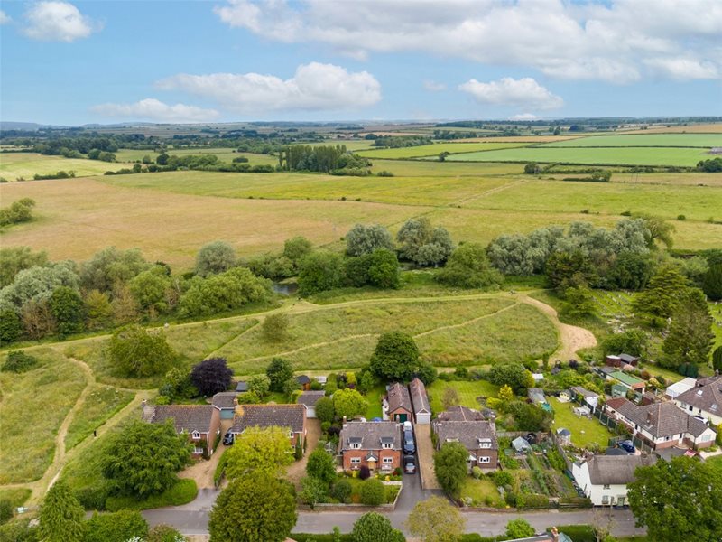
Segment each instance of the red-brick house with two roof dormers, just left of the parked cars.
M401 425L393 422L348 422L338 438L344 471L393 471L401 467L401 451Z

